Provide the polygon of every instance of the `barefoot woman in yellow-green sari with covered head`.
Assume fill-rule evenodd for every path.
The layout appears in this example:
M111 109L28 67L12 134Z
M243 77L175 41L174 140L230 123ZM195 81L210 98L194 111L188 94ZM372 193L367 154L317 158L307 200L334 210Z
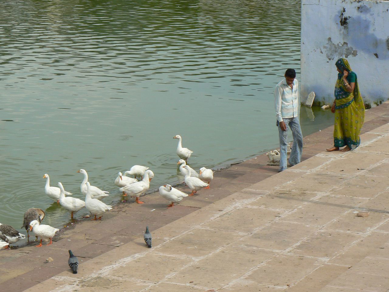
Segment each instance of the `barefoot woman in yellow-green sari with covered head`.
M327 151L350 151L361 143L359 134L364 122L364 103L359 92L357 74L349 62L340 58L335 63L338 79L335 84L335 100L331 111L335 113L334 146Z

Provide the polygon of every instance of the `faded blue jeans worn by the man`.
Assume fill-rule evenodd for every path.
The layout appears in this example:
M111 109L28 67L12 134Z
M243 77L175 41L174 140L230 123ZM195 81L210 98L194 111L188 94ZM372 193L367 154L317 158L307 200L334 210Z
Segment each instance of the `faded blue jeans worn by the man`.
M289 164L295 165L301 162L301 153L303 153L303 134L301 134L300 121L298 117L283 118L286 131L281 130L278 125L279 137L280 137L280 171L284 171L287 167L287 147L288 147L288 130L291 128L293 135L292 151L289 156Z

